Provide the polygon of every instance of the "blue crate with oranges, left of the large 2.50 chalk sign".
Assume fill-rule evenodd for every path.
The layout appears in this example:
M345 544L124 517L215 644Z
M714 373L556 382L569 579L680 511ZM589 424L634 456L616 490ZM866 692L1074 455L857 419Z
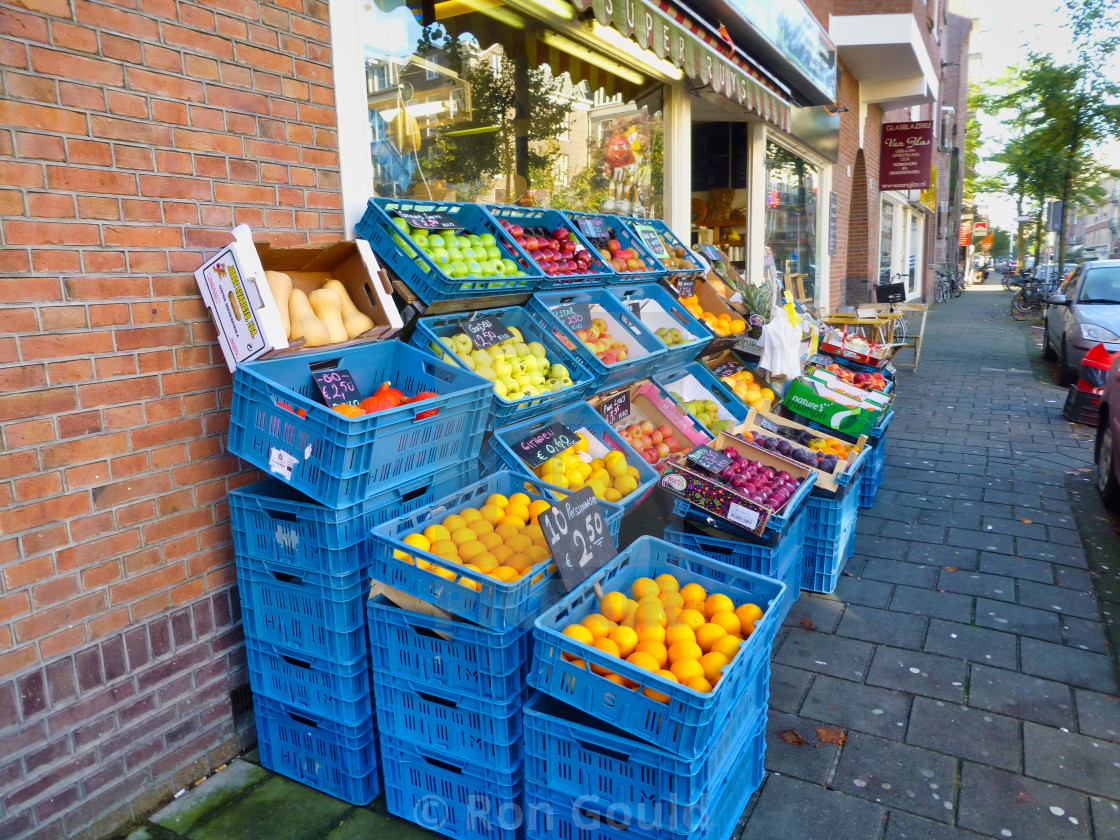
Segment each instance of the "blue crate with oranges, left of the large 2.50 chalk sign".
M563 495L503 469L375 528L371 576L489 629L526 626L563 589L536 523ZM599 505L617 542L623 508Z

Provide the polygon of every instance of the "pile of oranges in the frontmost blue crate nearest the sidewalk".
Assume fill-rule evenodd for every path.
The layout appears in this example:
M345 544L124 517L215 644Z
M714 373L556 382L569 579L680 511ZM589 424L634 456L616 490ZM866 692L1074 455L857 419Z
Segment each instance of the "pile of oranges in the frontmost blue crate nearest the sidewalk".
M670 682L707 694L719 683L724 669L739 645L755 629L763 610L755 604L738 606L726 595L709 595L699 584L680 586L672 575L638 578L631 594L610 591L599 599L599 612L579 624L569 624L566 636L617 656ZM578 657L564 659L588 668ZM629 689L637 683L604 668L590 670ZM660 702L669 698L653 688L643 690Z

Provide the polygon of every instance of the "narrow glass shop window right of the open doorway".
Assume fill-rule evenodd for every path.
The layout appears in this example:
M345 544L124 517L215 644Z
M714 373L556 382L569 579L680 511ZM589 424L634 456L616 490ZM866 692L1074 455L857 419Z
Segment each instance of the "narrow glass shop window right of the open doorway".
M786 288L814 302L818 178L816 167L777 143L766 143L766 244Z

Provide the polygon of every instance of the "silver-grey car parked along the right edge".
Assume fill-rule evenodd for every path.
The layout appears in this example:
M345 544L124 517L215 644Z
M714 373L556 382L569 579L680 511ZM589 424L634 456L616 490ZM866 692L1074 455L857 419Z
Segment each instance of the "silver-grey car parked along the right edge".
M1057 360L1057 381L1068 385L1090 347L1120 349L1120 260L1077 265L1046 300L1043 357Z

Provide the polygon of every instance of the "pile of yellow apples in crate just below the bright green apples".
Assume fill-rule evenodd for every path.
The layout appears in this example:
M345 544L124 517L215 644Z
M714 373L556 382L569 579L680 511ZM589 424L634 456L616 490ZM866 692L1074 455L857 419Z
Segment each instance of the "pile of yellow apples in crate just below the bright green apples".
M466 333L444 336L442 342L467 368L494 383L494 393L513 402L525 396L540 396L572 386L571 373L562 364L549 361L540 342L525 342L513 326L506 327L512 338L477 349Z

